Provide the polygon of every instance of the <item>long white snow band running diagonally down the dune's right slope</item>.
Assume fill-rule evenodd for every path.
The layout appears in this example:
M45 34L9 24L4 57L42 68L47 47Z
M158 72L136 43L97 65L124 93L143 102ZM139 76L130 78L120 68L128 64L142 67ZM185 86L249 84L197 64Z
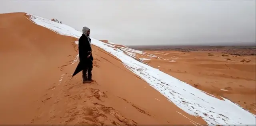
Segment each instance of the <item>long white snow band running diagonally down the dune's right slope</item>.
M60 35L76 38L79 38L80 35L82 35L80 31L77 31L72 27L42 17L30 15L30 20L37 25L46 27ZM130 48L122 48L122 50L117 49L111 44L103 43L93 38L91 43L119 58L126 68L144 79L150 86L162 93L162 95L164 95L170 102L174 103L188 114L201 116L208 125L256 124L256 117L254 114L242 109L230 100L225 98L223 98L224 100L220 100L209 96L187 83L128 56L123 50L131 50ZM134 52L134 50L132 50L132 52Z

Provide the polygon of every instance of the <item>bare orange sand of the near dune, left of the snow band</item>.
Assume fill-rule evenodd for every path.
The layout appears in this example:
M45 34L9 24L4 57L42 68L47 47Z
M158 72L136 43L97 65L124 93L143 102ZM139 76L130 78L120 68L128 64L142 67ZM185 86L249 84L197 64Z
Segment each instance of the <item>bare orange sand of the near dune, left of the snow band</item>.
M206 124L95 46L96 81L82 84L81 73L70 80L78 64L72 64L76 38L36 25L25 13L0 18L1 124Z

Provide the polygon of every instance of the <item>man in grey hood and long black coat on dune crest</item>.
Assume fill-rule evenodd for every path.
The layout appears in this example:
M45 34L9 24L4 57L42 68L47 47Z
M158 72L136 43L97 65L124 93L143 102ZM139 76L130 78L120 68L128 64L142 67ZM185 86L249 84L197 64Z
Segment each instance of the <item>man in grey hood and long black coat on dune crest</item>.
M92 80L92 47L90 39L90 29L88 27L83 27L82 36L78 40L78 51L79 51L79 60L82 63L82 78L83 83L91 83ZM88 77L86 76L88 72Z

